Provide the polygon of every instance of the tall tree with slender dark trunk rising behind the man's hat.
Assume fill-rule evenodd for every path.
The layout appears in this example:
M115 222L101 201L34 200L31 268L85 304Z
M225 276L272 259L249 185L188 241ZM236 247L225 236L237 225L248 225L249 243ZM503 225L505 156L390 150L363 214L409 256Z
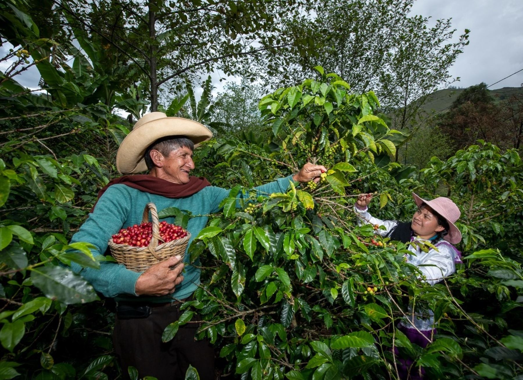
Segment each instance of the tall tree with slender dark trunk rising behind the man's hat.
M162 86L181 89L184 77L214 69L234 75L260 54L274 60L277 49L289 44L278 34L282 20L298 17L308 3L53 1L70 26L99 36L139 68L152 111Z

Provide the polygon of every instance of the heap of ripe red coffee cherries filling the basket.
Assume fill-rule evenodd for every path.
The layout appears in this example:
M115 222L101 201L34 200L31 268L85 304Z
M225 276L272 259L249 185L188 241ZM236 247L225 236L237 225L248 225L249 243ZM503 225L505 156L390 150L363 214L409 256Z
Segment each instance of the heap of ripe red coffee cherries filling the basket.
M116 244L125 244L133 247L147 247L153 236L153 224L142 223L122 228L116 235L112 235L112 241ZM187 231L180 226L160 222L160 237L165 243L178 240L187 236Z

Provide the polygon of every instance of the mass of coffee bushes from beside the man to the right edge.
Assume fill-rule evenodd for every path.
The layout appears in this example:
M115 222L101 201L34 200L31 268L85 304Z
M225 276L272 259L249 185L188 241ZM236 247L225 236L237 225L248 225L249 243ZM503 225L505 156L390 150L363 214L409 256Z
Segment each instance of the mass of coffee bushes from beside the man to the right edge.
M502 251L487 243L496 238L480 235L486 235L482 223L495 223L500 212L487 188L506 186L508 201L499 206L507 219L517 218L510 223L521 220L519 156L492 145L471 147L398 183L386 170L397 164L383 170L374 163L395 153L389 139L395 132L377 114L377 99L351 94L343 80L319 71L321 80L261 99L270 142L215 141L202 149L200 164L214 159L221 168L213 183L243 186L231 190L223 213L189 248L191 260L203 266L203 283L164 341L198 314L199 338L220 348L224 374L242 378L397 378L400 359L413 361L411 373L423 366L428 378L521 376L520 245ZM287 193L266 197L250 190L306 161L329 168L317 188L291 183ZM376 226L358 227L353 206L360 192L372 192L371 212L408 220L415 210L410 191L435 197L440 182L457 191L450 196L463 211L465 263L429 286L405 262L407 247L375 237ZM484 221L470 221L480 210ZM503 231L507 245L519 241ZM438 333L425 349L396 328L408 306L434 310Z

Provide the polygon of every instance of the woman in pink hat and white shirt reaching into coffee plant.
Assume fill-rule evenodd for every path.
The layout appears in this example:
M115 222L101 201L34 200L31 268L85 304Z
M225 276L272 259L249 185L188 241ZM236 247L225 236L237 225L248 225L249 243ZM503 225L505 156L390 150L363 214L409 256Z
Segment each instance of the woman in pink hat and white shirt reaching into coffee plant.
M367 206L372 199L372 194L360 194L355 205L358 224L370 223L384 226L384 230L377 229L375 233L402 243L413 242L414 244L408 246L412 254L406 255L406 260L417 266L423 273L423 281L434 285L454 273L455 263L461 262L460 251L453 246L461 241L461 233L454 224L461 212L456 203L448 198L439 197L426 201L414 193L412 195L418 210L412 216L411 222L398 222L382 221L370 215ZM432 244L437 250L430 248L427 252L423 251L420 246L423 246L424 242ZM434 313L429 310L429 318L421 318L419 313L409 314L408 320L401 321L398 328L411 342L424 348L435 333ZM400 376L407 378L408 367L412 361L401 362L402 365L398 367ZM411 374L411 378L420 377Z

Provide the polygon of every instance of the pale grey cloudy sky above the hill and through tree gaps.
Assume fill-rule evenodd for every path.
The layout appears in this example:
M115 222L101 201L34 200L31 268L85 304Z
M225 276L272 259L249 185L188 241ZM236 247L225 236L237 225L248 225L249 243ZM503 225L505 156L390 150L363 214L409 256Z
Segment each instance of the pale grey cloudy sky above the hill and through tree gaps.
M454 77L461 77L460 87L481 82L491 85L523 68L523 0L417 0L413 14L438 18L452 18L456 35L470 29L470 44L450 68ZM9 47L0 48L0 54ZM0 70L5 70L5 62ZM222 89L219 73L213 78L216 89ZM237 78L229 78L236 80ZM36 88L39 75L35 67L18 76L17 80L29 88ZM491 87L519 87L523 71Z

